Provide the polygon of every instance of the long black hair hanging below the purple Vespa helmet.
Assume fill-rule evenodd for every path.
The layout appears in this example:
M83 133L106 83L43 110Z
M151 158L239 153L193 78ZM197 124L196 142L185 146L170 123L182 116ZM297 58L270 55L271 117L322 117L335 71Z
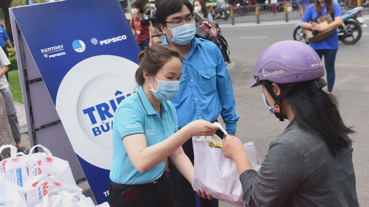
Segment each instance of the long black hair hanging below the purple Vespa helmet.
M310 86L313 81L295 83L286 96L300 128L307 130L326 141L333 155L348 147L352 140L348 134L355 133L347 127L339 115L336 98L322 89L313 93ZM279 85L283 91L286 85Z

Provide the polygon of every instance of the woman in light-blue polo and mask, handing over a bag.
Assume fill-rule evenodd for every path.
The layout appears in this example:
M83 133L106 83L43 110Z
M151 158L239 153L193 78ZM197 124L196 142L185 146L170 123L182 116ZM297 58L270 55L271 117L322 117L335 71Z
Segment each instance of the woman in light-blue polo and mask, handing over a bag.
M146 48L139 61L138 90L119 104L113 121L111 206L172 207L165 158L170 157L191 183L193 166L181 146L189 137L214 135L218 127L196 120L178 130L176 110L169 101L177 94L182 75L182 56L177 49L169 45ZM198 193L208 197L205 192Z

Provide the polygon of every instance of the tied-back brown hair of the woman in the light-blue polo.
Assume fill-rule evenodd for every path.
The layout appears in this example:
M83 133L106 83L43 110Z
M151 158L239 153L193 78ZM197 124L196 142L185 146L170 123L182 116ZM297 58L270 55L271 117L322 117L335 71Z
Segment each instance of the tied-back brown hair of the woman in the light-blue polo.
M172 58L178 58L182 63L180 51L170 45L155 45L143 50L138 56L140 66L136 70L136 83L138 85L145 83L144 70L155 76L163 65Z

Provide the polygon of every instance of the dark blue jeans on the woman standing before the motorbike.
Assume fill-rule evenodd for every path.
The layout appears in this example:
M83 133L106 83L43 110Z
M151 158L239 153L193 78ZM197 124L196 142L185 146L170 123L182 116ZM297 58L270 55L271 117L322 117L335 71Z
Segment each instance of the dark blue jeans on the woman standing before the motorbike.
M317 52L320 59L322 59L324 56L324 62L327 71L328 91L332 92L335 79L334 61L337 50L315 50L315 52Z

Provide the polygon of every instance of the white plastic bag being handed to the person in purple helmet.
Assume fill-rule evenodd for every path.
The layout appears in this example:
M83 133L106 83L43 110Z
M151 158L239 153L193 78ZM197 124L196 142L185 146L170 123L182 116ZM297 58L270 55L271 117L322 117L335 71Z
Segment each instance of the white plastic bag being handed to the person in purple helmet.
M204 142L196 141L197 139L204 140ZM206 141L207 137L205 136L192 137L194 153L192 188L204 190L214 198L229 204L244 207L243 190L236 163L223 156L222 148L210 148ZM244 147L251 165L256 171L259 171L261 162L254 143L246 143Z

